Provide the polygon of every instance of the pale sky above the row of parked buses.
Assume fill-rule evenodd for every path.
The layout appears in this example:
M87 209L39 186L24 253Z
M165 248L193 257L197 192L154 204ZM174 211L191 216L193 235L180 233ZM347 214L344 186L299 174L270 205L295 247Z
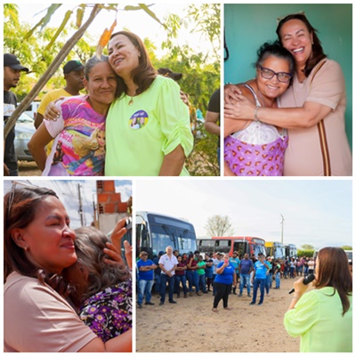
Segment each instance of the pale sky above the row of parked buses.
M137 210L184 218L206 236L207 219L228 215L235 236L310 244L352 246L352 182L327 180L145 181L136 184Z

